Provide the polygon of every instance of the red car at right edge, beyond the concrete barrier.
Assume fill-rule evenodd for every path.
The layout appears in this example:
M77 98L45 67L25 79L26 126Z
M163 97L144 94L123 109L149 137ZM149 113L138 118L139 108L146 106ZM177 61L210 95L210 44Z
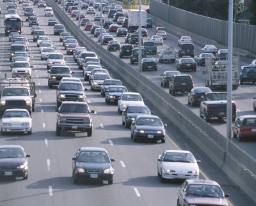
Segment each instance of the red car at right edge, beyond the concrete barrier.
M245 138L256 137L256 115L241 115L232 124L234 138L243 141Z

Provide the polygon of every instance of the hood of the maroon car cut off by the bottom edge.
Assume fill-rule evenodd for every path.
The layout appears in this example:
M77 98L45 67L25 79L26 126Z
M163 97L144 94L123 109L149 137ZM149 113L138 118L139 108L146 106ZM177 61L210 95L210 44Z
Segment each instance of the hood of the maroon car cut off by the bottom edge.
M186 196L186 199L188 200L189 204L202 204L202 205L228 205L226 199L222 198L207 198L207 197L202 197L202 196Z

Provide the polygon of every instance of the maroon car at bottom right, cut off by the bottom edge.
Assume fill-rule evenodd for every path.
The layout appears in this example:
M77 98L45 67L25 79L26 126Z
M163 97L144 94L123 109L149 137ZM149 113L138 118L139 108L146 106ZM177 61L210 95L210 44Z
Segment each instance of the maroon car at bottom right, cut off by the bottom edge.
M220 184L213 180L185 180L177 192L177 205L228 206L227 197Z

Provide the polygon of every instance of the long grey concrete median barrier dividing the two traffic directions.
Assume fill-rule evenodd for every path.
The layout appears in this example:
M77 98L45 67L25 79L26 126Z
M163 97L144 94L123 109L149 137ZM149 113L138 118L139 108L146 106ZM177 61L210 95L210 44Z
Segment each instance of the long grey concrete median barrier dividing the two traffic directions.
M224 149L227 143L225 136L193 114L189 108L180 104L177 99L166 93L159 85L154 84L129 64L124 64L122 59L92 41L83 31L77 29L77 25L67 15L63 15L63 10L57 4L51 0L46 0L46 2L54 8L54 14L60 22L65 24L66 28L73 32L77 31L74 36L79 38L81 45L96 52L110 70L115 71L124 79L125 84L140 92L156 107L161 108L159 111L161 115L168 118L173 123L173 126L179 129L184 136L195 142L223 172L227 173L228 177L237 186L243 189L256 202L255 159L248 156L246 152L232 142L229 142L227 154Z

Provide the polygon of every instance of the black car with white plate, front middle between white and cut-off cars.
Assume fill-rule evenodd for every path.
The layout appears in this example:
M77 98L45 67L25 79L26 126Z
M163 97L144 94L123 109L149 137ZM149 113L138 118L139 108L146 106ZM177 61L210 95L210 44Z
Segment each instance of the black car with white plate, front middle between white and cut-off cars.
M114 169L108 152L99 147L81 147L72 158L72 177L76 184L78 180L108 180L113 184Z

